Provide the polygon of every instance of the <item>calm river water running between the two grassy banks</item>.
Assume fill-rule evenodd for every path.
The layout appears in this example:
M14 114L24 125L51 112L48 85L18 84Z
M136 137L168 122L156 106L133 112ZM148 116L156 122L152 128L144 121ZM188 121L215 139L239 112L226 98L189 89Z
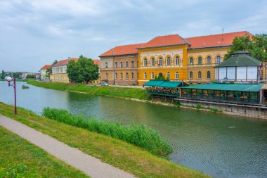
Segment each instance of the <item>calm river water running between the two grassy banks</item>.
M17 82L18 106L38 114L64 108L99 120L141 123L157 130L174 152L169 159L212 177L267 177L267 120L91 96ZM13 104L13 88L0 82L0 101Z

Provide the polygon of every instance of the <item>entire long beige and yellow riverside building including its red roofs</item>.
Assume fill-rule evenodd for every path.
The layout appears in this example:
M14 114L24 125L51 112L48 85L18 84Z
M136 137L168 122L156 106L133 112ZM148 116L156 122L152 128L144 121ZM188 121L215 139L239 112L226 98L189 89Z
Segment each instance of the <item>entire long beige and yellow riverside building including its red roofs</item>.
M144 44L117 46L100 56L101 79L121 85L142 85L158 76L189 83L211 82L215 80L214 67L224 60L233 39L245 35L253 36L246 31L190 38L173 34L155 37ZM138 68L126 68L130 61L138 64Z

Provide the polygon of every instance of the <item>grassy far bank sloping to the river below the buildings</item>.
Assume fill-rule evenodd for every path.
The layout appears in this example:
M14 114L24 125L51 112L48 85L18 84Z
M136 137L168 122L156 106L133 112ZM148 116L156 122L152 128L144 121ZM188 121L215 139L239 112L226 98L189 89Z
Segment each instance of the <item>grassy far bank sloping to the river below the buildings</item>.
M43 87L46 89L57 89L65 91L84 92L86 94L100 95L100 96L116 96L122 98L138 98L149 99L144 89L125 88L125 87L110 87L110 86L96 86L85 84L65 84L56 82L39 82L36 80L29 80L28 84L36 87Z

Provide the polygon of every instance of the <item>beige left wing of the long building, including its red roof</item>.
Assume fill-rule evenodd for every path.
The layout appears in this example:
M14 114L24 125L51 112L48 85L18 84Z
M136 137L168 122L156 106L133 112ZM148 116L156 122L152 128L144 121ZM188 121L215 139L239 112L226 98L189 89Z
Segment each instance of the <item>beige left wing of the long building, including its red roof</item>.
M116 46L101 54L101 82L115 85L138 84L138 51L141 44Z

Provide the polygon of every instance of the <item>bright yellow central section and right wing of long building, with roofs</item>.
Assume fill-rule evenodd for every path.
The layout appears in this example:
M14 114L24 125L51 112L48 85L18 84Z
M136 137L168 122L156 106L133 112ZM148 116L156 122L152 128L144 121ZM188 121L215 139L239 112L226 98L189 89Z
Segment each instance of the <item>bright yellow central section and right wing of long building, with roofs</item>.
M249 32L232 32L183 38L178 34L155 37L138 48L138 84L155 76L190 83L211 82L214 66L223 61L235 37Z

